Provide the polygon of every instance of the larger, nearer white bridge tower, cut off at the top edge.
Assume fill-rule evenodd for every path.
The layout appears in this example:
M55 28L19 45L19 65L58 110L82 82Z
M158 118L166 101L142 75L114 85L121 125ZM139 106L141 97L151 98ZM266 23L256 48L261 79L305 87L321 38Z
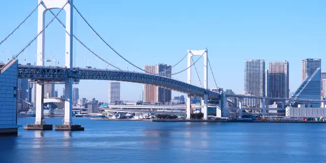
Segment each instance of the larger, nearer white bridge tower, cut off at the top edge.
M50 9L61 9L67 0L38 0L42 5L38 8L38 32L45 27L45 13ZM73 0L69 0L63 8L66 12L66 52L65 66L72 70L72 46L73 46ZM37 38L37 65L44 66L44 43L45 31ZM65 117L64 125L72 124L72 78L65 82ZM38 83L36 85L36 121L35 124L43 124L43 93L44 85Z

